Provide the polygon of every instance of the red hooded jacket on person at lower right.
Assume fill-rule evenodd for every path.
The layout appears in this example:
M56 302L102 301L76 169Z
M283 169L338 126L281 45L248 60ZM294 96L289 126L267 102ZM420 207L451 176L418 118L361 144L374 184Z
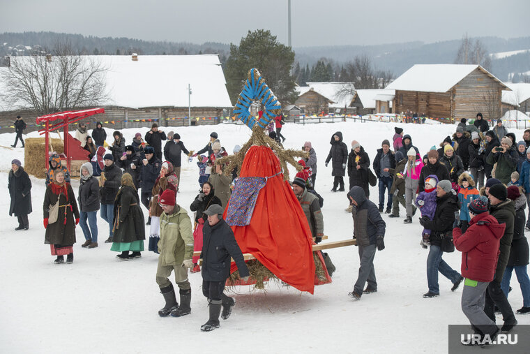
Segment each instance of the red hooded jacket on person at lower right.
M453 243L462 252L462 276L483 282L493 280L505 227L489 212L483 212L471 219L464 235L460 228L453 229Z

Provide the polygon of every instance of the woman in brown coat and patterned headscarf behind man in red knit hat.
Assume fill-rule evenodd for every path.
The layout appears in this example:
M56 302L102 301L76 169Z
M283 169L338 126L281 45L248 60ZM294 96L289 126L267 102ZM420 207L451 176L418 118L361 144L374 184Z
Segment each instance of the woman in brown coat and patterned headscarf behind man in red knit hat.
M151 229L149 230L149 251L158 253L158 241L160 240L160 215L162 215L162 207L158 205L158 196L166 189L172 189L176 193L179 187L179 179L176 177L173 164L169 161L162 163L160 168L160 175L155 181L155 185L151 191L153 198L149 204L149 216L151 216Z

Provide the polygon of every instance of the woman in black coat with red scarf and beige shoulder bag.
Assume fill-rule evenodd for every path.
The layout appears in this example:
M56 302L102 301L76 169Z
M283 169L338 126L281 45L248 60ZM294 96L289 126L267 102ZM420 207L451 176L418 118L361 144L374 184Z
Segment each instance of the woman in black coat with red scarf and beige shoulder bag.
M46 187L43 202L45 244L50 244L52 256L57 256L55 264L73 263L75 226L79 223L79 210L74 191L64 181L64 172L56 170L52 182Z

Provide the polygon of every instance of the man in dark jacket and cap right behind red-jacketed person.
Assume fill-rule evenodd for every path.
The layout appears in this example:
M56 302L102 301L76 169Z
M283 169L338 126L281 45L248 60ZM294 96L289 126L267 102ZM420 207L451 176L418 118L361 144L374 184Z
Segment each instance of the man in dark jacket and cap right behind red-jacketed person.
M490 200L490 214L492 214L499 223L505 224L506 228L504 229L504 235L501 238L501 253L499 253L499 260L497 260L495 276L493 281L490 282L490 285L487 286L484 312L493 322L495 322L494 307L497 306L501 311L504 320L501 330L503 332L508 332L517 325L517 320L515 320L512 307L501 289L501 281L504 270L506 270L508 258L510 257L515 221L515 206L512 200L507 199L508 192L506 191L506 187L501 183L491 186L488 193L489 195L487 198Z

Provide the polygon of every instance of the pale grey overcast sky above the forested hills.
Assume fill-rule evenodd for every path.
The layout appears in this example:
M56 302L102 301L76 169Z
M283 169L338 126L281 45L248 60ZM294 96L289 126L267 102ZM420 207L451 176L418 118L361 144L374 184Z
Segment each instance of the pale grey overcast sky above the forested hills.
M530 36L530 0L292 0L292 45ZM0 32L55 31L239 43L270 29L287 44L287 0L0 0Z

